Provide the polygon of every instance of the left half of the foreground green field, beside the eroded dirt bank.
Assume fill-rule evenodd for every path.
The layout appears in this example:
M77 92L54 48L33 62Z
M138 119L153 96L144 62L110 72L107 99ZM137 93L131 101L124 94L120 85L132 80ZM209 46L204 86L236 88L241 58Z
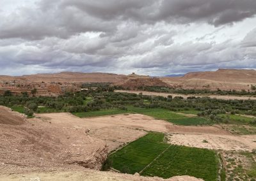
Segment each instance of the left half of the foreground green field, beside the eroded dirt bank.
M111 154L108 159L116 170L134 174L150 164L169 147L163 143L163 133L148 133L126 147Z

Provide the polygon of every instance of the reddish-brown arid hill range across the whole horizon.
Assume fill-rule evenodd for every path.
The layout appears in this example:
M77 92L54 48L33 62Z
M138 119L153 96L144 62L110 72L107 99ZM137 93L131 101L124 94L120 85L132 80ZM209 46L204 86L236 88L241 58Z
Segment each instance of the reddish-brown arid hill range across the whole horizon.
M143 85L147 80L147 85L166 85L170 87L180 87L182 89L211 89L211 90L246 90L251 91L252 85L256 85L255 69L218 69L217 71L191 72L185 75L168 75L157 77L159 80L143 79L150 76L140 76L136 74L118 75L114 73L43 73L23 76L0 76L1 81L20 82L111 82L115 85L122 85L130 79L138 78L138 83ZM161 80L161 81L160 81ZM134 82L134 80L132 80ZM132 81L128 81L130 85ZM151 82L151 83L150 83ZM160 83L161 82L161 83Z

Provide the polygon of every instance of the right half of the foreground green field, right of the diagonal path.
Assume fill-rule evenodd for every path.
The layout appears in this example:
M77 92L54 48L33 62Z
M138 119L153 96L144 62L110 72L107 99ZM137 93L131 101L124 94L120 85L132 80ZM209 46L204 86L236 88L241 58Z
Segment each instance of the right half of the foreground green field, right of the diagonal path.
M163 178L189 175L204 180L216 180L218 158L211 150L171 145L142 175Z

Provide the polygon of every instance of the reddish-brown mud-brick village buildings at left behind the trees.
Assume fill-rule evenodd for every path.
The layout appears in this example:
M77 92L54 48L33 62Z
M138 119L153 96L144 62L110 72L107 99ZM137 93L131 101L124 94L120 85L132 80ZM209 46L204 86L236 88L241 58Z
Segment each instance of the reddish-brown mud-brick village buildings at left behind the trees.
M23 92L30 96L33 89L36 89L36 96L58 96L65 92L81 91L81 83L0 81L0 95L10 91L13 96L22 96Z

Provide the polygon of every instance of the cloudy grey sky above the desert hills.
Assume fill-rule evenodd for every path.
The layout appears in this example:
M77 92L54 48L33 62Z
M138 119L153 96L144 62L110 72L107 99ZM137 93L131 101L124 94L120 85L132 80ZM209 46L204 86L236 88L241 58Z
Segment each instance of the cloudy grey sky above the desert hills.
M255 0L1 0L0 75L256 68Z

